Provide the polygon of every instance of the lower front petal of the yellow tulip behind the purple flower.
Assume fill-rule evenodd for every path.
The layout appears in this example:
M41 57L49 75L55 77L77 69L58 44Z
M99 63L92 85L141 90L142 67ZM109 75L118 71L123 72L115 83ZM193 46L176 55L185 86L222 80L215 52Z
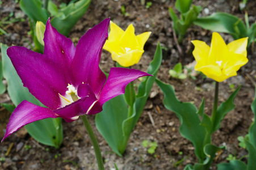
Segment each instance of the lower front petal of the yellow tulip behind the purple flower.
M140 58L142 56L142 53L144 53L144 50L132 50L126 54L116 54L112 53L111 57L114 61L118 62L123 67L129 67L132 65L135 65L140 61Z

